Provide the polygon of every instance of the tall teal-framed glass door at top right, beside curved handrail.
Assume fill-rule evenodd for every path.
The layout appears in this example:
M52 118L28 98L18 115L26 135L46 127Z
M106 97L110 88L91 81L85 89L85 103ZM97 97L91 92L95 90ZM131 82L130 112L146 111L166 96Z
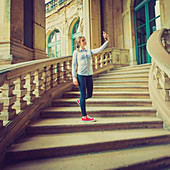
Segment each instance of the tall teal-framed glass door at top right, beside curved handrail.
M135 40L138 64L150 63L146 50L150 35L161 28L159 0L135 1Z

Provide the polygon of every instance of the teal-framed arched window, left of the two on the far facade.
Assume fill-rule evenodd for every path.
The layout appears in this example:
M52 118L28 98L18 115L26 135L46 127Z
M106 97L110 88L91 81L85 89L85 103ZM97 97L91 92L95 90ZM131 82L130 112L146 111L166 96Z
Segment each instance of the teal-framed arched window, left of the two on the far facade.
M48 38L47 55L52 58L61 57L61 34L59 30L53 31Z

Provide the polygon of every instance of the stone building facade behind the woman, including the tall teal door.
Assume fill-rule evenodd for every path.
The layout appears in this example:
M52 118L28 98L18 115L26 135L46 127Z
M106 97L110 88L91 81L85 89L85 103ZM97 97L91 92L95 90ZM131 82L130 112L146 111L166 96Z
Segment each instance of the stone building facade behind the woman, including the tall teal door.
M153 31L170 27L168 0L52 1L56 1L56 6L46 10L47 53L49 36L58 30L61 33L58 56L72 54L72 31L78 20L79 31L86 37L88 48L97 48L104 42L102 31L105 30L111 39L109 47L130 50L130 65L150 63L147 39Z

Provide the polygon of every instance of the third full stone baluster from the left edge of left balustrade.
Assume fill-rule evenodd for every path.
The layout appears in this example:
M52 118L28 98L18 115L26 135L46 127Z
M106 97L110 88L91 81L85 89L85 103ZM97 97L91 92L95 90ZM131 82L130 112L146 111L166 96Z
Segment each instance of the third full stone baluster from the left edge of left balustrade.
M34 90L36 88L36 84L34 83L34 72L30 72L26 75L25 77L26 83L25 83L25 88L27 88L27 94L25 95L27 105L31 104L34 99L36 98L34 94Z

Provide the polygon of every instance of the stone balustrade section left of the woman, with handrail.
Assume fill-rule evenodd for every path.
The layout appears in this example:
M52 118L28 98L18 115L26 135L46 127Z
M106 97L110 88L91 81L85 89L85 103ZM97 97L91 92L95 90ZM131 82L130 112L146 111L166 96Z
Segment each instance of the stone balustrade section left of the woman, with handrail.
M4 106L0 118L10 120L46 91L71 79L71 60L71 56L36 60L1 69L0 102Z

